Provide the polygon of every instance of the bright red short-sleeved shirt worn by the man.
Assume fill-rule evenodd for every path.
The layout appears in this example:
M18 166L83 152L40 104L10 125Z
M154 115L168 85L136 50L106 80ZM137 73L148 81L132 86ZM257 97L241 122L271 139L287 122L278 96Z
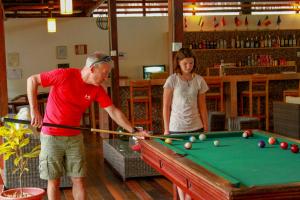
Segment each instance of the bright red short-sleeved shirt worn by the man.
M86 84L80 69L56 69L41 73L43 87L51 86L43 122L68 126L80 126L83 113L93 101L102 108L112 105L102 86ZM80 131L43 126L42 132L49 135L73 136Z

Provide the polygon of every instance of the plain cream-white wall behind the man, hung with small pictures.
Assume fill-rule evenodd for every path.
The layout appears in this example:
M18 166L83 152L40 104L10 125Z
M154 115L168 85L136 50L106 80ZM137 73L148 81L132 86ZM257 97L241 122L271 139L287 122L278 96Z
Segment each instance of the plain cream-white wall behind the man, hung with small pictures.
M119 18L120 75L142 78L142 66L168 65L167 17ZM26 78L57 68L59 63L81 68L86 55L75 55L74 45L87 44L88 53L109 52L108 31L97 28L95 18L59 18L57 32L47 33L46 19L8 19L5 45L8 53L19 53L21 80L8 80L8 96L26 93ZM67 46L67 59L56 59L56 46ZM7 65L7 68L11 66Z

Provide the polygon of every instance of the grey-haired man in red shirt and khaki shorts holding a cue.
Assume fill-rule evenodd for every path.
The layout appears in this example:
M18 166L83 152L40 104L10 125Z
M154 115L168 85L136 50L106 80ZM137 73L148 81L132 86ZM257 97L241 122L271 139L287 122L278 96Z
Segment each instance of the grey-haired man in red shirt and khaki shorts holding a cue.
M80 126L85 110L93 101L99 102L110 117L129 132L135 132L125 115L116 108L101 84L112 69L111 58L95 52L88 56L82 69L55 69L32 75L27 79L31 125L42 123ZM38 87L51 87L42 118L37 104ZM49 200L60 199L60 177L65 172L73 182L75 200L86 198L84 188L85 158L83 137L78 130L42 127L40 177L48 180Z

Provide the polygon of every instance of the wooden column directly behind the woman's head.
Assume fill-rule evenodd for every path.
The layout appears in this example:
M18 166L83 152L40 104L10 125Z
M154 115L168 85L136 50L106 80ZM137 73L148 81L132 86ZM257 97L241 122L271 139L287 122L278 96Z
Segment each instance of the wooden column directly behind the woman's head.
M183 43L183 0L168 0L169 16L169 72L173 73L174 43Z

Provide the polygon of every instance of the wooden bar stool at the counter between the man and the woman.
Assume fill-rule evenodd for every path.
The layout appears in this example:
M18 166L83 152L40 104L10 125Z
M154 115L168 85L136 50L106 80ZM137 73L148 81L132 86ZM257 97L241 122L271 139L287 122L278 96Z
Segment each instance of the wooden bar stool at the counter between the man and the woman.
M145 126L152 130L152 97L150 80L134 80L129 83L128 99L129 119L133 126ZM139 106L139 107L138 107ZM143 111L143 107L144 110ZM139 112L138 112L139 111Z

